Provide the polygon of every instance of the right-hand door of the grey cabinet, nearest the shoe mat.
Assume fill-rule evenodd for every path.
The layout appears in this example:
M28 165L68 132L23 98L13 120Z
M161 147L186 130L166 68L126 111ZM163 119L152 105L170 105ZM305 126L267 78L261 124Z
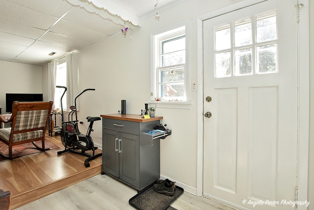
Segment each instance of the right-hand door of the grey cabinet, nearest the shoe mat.
M119 133L120 179L138 187L139 183L139 136Z

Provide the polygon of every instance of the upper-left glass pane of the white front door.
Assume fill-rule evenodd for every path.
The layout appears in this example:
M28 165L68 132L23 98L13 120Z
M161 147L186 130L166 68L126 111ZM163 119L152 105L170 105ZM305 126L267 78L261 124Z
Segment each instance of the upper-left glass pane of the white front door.
M216 27L215 49L225 50L231 48L230 24Z

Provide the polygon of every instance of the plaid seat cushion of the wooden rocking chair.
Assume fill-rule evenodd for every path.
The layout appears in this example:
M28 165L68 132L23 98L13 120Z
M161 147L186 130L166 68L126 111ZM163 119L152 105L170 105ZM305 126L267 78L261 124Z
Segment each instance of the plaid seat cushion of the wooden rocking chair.
M0 138L9 142L11 134L11 128L2 128L0 129ZM36 130L26 133L18 133L13 135L13 142L22 142L27 139L35 139L43 136L42 130Z

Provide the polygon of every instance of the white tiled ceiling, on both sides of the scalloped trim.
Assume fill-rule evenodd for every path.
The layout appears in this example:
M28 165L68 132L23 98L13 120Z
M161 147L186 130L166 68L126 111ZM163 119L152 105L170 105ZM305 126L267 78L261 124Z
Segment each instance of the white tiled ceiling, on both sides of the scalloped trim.
M91 1L91 0L89 0ZM140 18L155 12L157 0L110 0ZM157 8L183 0L158 0ZM0 0L0 60L44 65L120 33L120 24L67 0ZM53 56L49 54L55 52Z

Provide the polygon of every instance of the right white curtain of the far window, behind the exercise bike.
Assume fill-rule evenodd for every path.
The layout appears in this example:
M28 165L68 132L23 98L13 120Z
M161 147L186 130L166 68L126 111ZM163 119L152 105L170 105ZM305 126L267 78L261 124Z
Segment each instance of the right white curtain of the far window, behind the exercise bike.
M78 54L67 55L67 107L75 105L75 97L78 95ZM77 100L77 110L79 103Z

